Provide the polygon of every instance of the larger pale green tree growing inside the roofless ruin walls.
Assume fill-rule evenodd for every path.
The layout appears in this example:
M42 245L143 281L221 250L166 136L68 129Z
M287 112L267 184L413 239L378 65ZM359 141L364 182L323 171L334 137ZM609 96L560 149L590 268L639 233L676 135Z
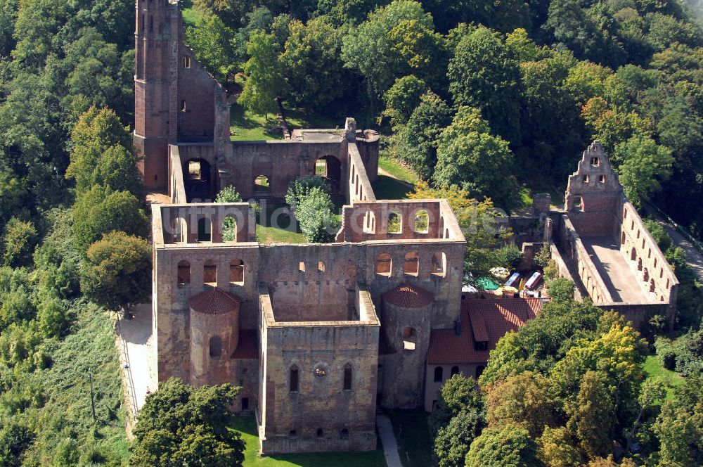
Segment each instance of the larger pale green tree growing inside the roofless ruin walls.
M330 243L340 228L340 220L334 213L332 198L323 188L311 188L295 210L305 239L309 243Z

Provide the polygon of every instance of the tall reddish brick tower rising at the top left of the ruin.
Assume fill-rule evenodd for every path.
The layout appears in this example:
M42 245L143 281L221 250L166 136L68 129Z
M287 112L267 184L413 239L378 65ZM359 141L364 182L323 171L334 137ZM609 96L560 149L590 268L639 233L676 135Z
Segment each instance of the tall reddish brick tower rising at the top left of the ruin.
M134 147L147 188L168 185L172 25L169 0L136 0Z

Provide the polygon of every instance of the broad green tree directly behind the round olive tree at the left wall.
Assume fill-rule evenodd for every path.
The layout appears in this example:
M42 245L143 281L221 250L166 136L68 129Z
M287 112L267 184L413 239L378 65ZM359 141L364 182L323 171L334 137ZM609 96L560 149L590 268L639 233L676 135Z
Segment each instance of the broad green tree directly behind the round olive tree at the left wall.
M112 192L100 185L76 200L73 218L74 241L80 252L85 252L92 243L112 231L140 237L149 233L149 220L133 194Z

